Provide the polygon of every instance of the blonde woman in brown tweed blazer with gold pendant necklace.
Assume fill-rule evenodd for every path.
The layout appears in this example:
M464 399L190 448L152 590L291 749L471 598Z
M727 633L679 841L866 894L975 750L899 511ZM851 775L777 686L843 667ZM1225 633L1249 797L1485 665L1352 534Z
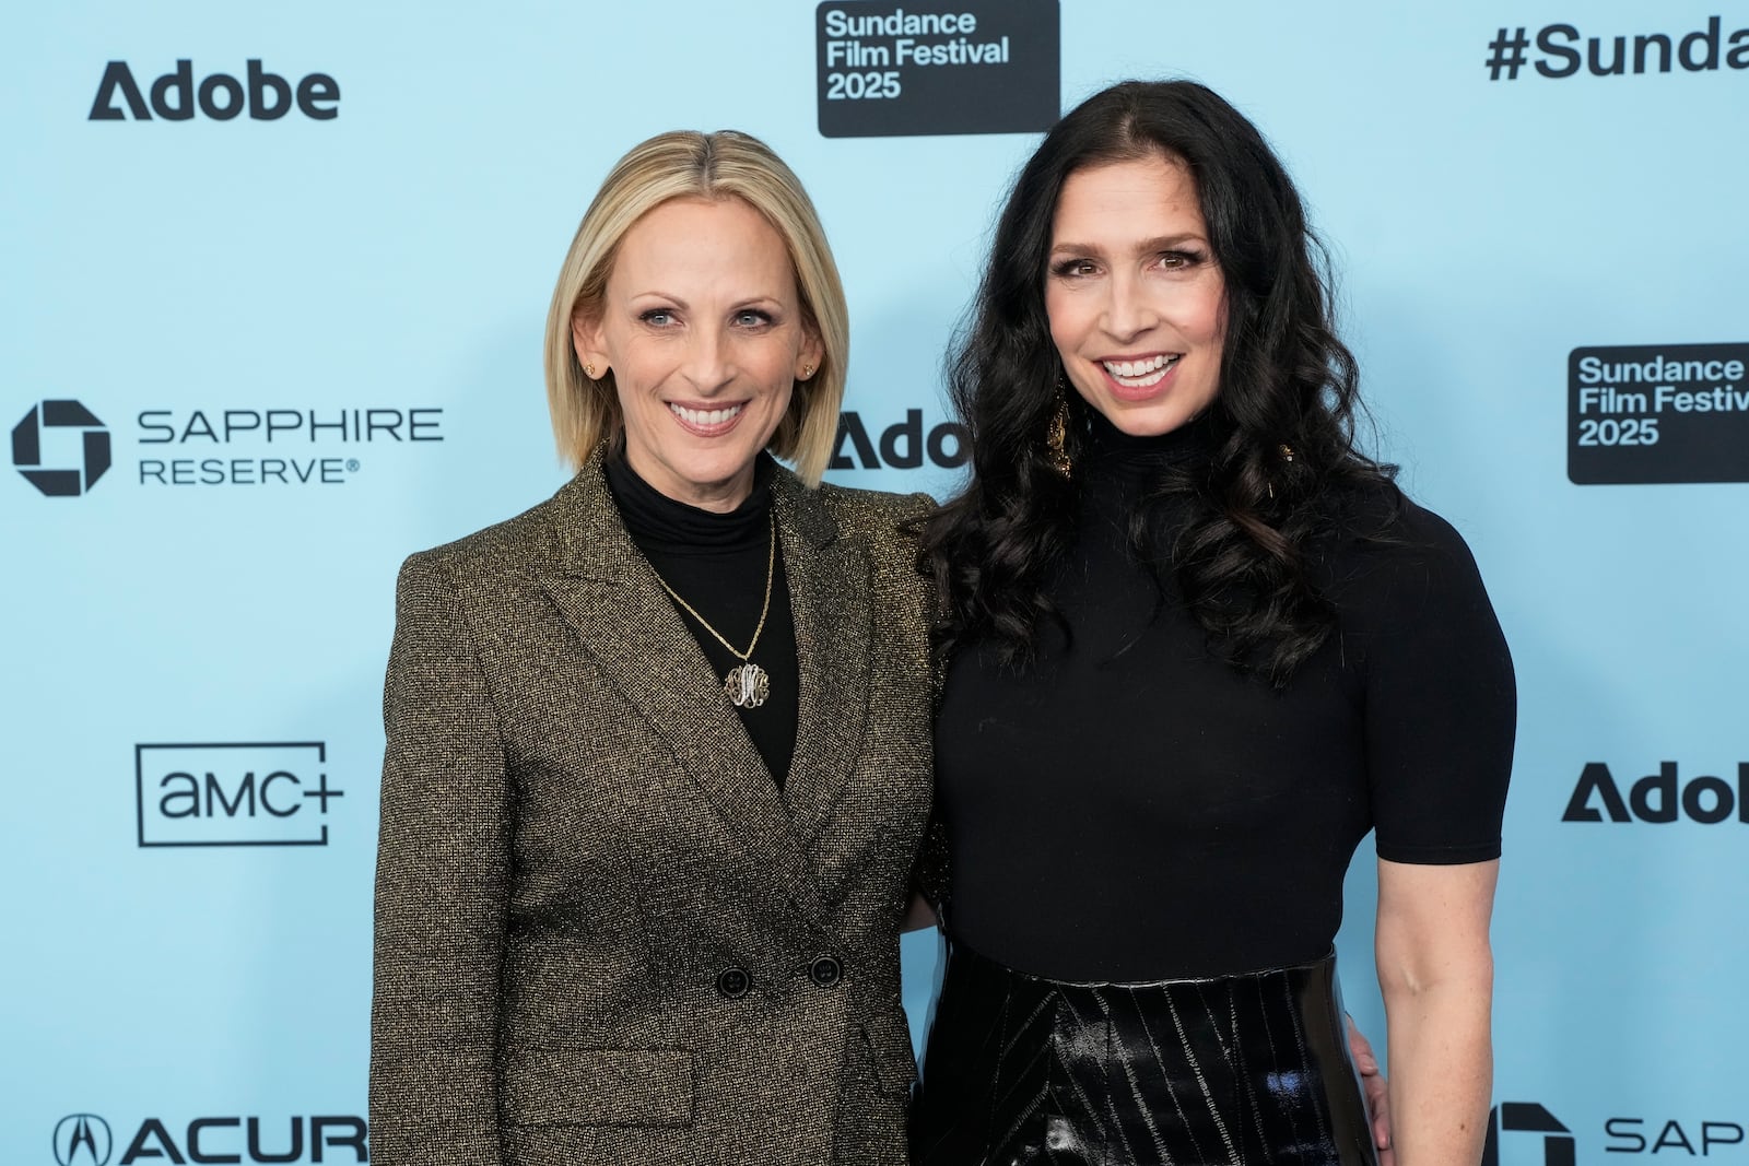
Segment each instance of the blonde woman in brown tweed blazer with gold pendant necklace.
M547 320L577 475L401 572L376 1163L904 1161L929 500L820 486L845 362L770 149L614 168Z

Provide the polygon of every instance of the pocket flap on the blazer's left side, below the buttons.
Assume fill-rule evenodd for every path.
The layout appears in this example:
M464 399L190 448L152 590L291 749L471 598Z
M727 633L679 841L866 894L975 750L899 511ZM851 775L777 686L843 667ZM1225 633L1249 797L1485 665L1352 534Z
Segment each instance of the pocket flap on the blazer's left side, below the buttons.
M516 1126L691 1126L691 1049L519 1049L505 1058Z

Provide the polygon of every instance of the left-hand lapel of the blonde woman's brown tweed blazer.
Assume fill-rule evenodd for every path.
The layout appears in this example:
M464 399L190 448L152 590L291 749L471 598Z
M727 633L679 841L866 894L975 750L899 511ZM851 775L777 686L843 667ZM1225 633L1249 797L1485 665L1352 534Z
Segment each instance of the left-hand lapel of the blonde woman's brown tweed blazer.
M698 640L626 533L607 493L600 455L551 505L561 568L540 582L565 622L728 820L743 850L775 871L808 914L824 914L777 783L729 708Z

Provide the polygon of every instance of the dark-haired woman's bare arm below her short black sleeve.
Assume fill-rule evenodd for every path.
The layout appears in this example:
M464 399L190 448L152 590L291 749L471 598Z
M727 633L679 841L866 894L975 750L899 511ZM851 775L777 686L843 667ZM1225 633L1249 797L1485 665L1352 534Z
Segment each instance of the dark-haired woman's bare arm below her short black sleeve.
M1390 1042L1390 1142L1403 1166L1481 1161L1499 867L1378 862L1375 956Z

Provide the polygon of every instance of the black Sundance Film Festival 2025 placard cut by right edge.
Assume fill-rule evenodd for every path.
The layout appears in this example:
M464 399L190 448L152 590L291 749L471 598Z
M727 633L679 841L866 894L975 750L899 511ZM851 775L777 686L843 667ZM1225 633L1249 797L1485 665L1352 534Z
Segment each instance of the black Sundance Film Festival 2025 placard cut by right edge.
M1749 344L1574 348L1567 477L1749 482Z

